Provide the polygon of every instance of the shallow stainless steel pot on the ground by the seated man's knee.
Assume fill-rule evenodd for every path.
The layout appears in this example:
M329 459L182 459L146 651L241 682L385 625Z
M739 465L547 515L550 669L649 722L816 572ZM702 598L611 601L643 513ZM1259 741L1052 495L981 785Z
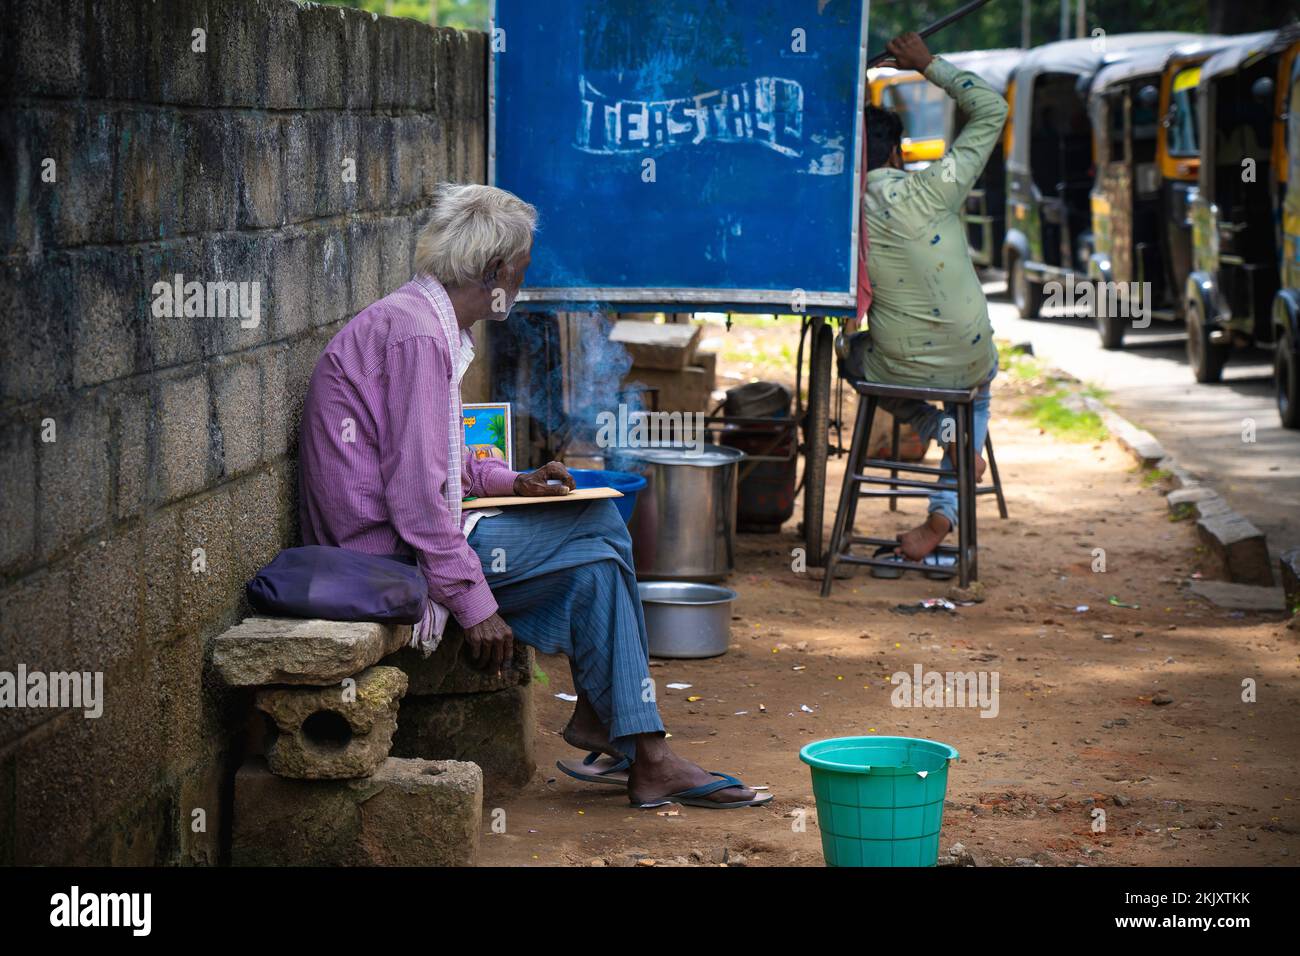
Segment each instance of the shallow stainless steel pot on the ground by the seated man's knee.
M731 643L736 592L716 584L640 581L651 657L718 657Z

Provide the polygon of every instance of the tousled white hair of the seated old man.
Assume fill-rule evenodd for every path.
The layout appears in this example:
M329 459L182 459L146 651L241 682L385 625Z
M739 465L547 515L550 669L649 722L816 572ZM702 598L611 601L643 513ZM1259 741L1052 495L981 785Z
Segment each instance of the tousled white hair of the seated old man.
M443 285L476 282L494 259L514 261L533 243L537 208L514 193L476 183L442 183L433 217L420 230L415 268Z

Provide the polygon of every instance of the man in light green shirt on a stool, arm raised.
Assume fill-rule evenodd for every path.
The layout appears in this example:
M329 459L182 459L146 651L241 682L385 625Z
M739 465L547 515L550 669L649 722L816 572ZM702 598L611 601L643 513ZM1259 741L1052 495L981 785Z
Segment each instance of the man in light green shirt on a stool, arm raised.
M961 211L1002 133L1006 101L974 73L931 56L916 34L890 40L888 51L894 57L890 65L914 69L942 87L967 121L941 160L909 173L902 164L902 121L887 109L867 108L863 207L872 302L868 329L848 339L846 365L854 376L892 385L984 385L975 403L978 451L988 433L988 382L997 372L997 347ZM942 437L944 466L950 467L954 449L945 412L911 399L880 405L922 438ZM978 472L983 464L978 458ZM937 493L926 523L900 537L900 550L922 561L956 523L957 496Z

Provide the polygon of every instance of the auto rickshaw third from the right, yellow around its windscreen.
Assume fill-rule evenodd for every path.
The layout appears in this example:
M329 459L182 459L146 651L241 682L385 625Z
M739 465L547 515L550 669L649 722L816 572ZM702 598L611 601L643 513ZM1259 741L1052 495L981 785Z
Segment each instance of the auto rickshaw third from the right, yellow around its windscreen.
M1139 312L1144 320L1183 317L1191 271L1187 193L1199 165L1196 82L1200 64L1227 44L1213 36L1173 51L1143 47L1092 81L1097 172L1088 278L1098 284L1092 315L1105 349L1123 346Z

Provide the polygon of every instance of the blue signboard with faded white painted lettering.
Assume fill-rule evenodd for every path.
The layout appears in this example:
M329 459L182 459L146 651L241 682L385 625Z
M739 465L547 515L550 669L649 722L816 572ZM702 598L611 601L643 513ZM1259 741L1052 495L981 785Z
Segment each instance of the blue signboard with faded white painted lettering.
M866 0L497 0L521 303L852 312Z

